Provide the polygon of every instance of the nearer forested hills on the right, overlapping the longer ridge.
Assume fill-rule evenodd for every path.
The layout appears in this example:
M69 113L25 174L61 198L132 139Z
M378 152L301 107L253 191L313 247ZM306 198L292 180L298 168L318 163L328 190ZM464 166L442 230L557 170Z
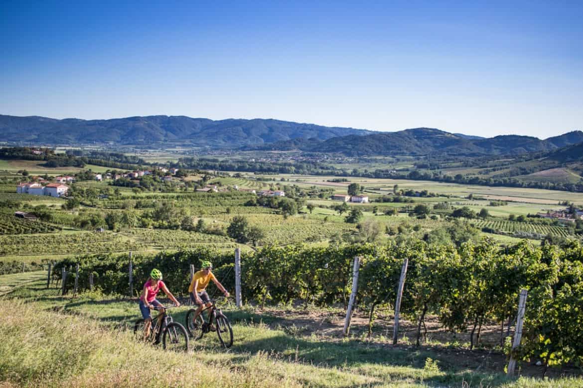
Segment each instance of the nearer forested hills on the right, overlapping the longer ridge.
M552 152L583 141L583 133L570 132L540 140L532 136L503 135L493 138L468 137L434 128L414 128L398 132L377 132L366 136L333 137L325 141L309 139L255 146L255 149L300 149L308 152L338 152L349 156L432 155L460 156L519 155Z

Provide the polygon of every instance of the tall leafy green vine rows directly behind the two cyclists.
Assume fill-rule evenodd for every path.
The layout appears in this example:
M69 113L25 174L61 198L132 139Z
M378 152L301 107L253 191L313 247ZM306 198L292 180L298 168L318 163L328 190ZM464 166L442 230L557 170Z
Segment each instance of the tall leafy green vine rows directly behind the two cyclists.
M345 305L352 281L352 259L360 256L358 300L374 325L375 308L391 305L403 259L409 259L402 314L415 317L417 344L423 341L425 319L437 315L442 327L452 332L470 331L470 349L480 343L485 325L498 324L504 342L507 322L514 322L518 291L529 292L519 359L540 359L545 365L580 365L583 362L583 323L578 307L583 304L583 249L573 243L533 247L524 242L500 249L490 240L479 244L341 245L339 247L266 247L242 255L243 298L261 304L301 301L320 306ZM233 253L196 248L175 254L135 255L134 293L151 268L159 268L175 293L185 293L189 265L197 268L204 259L215 264L223 284L234 284ZM101 255L63 261L71 268L80 264L79 284L87 287L93 273L97 287L106 293L127 293L127 255ZM69 280L72 286L73 279ZM506 334L508 335L508 334Z

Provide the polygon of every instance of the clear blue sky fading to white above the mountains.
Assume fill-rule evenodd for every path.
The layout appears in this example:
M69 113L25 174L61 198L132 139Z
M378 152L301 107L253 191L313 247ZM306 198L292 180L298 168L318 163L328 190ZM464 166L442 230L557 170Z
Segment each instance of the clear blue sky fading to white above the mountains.
M583 1L3 1L0 114L583 130Z

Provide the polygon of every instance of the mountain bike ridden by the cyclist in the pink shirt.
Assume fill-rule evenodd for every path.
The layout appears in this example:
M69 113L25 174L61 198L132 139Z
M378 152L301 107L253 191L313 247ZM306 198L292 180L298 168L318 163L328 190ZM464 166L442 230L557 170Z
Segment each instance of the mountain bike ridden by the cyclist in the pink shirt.
M176 307L171 305L168 307L153 307L154 310L160 311L155 318L152 318L152 326L150 327L150 335L144 338L145 320L138 319L134 323L134 336L138 340L146 340L154 345L161 342L164 349L172 351L188 351L188 333L184 326L178 322L174 322L172 317L168 315L167 311L170 308Z

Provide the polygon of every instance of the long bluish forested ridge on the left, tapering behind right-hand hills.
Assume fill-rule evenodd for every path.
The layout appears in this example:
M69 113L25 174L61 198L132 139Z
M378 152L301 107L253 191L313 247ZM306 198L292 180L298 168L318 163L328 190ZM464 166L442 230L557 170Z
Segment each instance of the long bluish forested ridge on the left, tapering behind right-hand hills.
M324 127L273 119L210 119L187 116L136 116L110 120L50 119L0 115L0 141L34 144L180 144L241 147L297 138L326 140L372 131Z

